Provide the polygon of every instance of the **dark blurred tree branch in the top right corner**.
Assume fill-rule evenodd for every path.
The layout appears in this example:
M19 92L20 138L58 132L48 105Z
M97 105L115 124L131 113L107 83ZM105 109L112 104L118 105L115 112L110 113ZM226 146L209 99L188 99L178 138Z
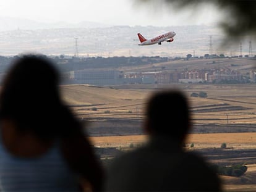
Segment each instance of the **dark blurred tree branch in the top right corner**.
M134 1L143 4L143 6L156 3L154 0ZM220 26L224 29L228 38L242 38L244 35L256 34L256 1L254 0L160 0L157 1L157 4L170 8L176 7L180 10L185 7L198 7L201 4L215 4L220 10L227 13L227 16L220 22Z

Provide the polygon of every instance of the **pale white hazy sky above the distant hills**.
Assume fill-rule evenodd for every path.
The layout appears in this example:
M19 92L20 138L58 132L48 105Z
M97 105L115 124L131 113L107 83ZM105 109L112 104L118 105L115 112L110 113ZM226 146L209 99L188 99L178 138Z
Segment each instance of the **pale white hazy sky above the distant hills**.
M0 16L40 22L92 21L108 25L170 26L213 23L218 21L219 15L215 7L202 7L200 15L195 15L189 9L176 12L164 6L152 9L135 6L132 0L0 1Z

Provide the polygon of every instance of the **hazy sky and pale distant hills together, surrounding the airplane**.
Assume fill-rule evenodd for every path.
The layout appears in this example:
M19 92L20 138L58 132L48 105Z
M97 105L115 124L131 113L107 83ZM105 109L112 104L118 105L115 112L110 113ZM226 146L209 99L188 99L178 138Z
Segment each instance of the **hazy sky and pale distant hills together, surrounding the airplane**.
M220 48L225 38L217 24L225 13L213 4L194 10L176 9L161 3L151 6L139 1L31 1L0 2L0 54L24 52L74 56L75 38L79 56L203 56L212 53L228 56L248 54L251 36ZM162 1L161 1L162 2ZM100 5L100 6L96 6ZM68 14L67 14L68 13ZM140 48L137 33L146 38L164 31L176 31L172 43ZM252 48L255 43L252 41Z

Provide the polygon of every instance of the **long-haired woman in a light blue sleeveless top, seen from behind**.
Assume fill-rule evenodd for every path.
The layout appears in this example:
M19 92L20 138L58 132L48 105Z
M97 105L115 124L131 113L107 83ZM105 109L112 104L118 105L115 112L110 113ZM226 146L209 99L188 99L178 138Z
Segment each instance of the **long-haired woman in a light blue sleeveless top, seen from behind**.
M1 191L101 191L103 172L43 56L14 61L0 93Z

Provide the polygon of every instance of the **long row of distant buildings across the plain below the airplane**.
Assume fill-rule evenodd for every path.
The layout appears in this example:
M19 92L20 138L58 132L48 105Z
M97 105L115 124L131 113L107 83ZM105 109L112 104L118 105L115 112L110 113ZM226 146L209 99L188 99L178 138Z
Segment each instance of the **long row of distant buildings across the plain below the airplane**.
M252 77L251 77L252 76ZM255 81L256 72L250 75ZM121 84L168 84L168 83L245 83L248 78L236 70L211 69L154 72L121 72L119 70L76 70L66 73L66 79L77 84L121 85Z

